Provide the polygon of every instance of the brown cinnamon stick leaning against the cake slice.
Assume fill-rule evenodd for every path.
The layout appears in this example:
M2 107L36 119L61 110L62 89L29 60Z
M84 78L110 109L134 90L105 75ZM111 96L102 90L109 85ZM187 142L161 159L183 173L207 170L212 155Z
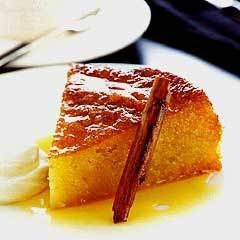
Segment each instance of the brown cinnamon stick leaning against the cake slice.
M114 223L127 221L137 188L145 180L147 165L152 158L170 101L169 86L170 81L165 77L159 76L154 80L115 195Z

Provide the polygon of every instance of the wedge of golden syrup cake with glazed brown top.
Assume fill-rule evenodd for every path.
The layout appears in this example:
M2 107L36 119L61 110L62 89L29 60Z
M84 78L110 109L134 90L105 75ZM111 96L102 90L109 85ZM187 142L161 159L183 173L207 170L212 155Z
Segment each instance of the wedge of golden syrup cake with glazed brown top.
M221 169L221 125L202 90L156 69L77 65L49 155L51 207L114 196L156 76L170 79L171 101L143 187Z

